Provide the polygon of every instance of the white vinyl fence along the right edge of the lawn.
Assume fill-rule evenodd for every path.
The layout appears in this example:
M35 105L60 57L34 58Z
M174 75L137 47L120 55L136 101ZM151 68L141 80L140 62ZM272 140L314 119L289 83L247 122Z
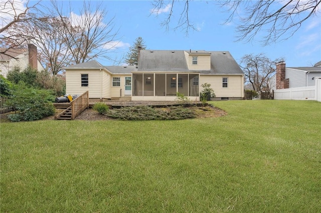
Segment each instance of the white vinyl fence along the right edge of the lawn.
M276 89L274 99L321 101L321 78L315 79L315 86Z

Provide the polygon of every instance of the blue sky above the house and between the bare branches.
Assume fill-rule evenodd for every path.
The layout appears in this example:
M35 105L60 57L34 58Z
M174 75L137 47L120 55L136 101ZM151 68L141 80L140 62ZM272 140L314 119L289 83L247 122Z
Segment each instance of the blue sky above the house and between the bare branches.
M78 6L82 2L72 0L71 4L74 12L79 14ZM115 27L119 27L119 43L114 49L117 53L110 53L111 57L125 55L128 47L141 36L147 49L230 51L237 62L245 54L261 52L271 59L283 57L286 66L310 66L321 60L321 9L317 17L309 18L292 37L262 46L256 41L235 42L236 25L233 22L223 24L228 14L222 12L213 1L190 2L190 20L199 30L190 31L188 35L180 29L167 31L161 27L168 11L165 9L158 16L151 14L152 4L149 0L105 0L102 5L108 10L107 19L114 16ZM182 6L183 2L176 3L170 28L176 26ZM261 39L259 35L256 38ZM114 63L109 60L98 61L103 65Z

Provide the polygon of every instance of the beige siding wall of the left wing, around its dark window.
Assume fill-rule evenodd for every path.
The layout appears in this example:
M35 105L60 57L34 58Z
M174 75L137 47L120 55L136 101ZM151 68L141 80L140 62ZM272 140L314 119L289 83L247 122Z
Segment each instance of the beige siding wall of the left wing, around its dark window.
M81 86L81 74L88 74L88 86ZM107 73L106 73L107 74ZM109 98L103 93L102 73L98 70L66 70L66 93L82 94L89 91L89 98Z

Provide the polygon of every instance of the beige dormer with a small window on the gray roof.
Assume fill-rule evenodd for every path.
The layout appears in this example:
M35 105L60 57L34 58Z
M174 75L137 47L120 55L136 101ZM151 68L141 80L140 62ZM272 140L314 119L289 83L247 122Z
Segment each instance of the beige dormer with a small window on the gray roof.
M190 70L211 69L211 52L204 50L185 51L187 66Z

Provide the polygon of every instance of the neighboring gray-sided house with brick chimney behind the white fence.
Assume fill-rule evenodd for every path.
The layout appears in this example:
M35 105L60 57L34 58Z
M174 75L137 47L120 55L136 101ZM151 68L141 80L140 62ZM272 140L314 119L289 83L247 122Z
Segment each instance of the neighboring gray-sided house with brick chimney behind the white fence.
M304 67L285 67L285 62L280 61L276 64L276 74L270 79L270 88L314 86L316 78L321 78L321 61Z

